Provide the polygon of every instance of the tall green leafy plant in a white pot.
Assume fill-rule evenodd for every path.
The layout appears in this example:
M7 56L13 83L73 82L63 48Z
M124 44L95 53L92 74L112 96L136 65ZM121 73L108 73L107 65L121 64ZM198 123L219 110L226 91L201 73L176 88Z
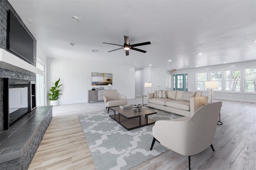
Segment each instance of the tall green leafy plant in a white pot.
M62 84L58 85L59 82L60 78L55 83L52 83L53 86L50 88L50 93L48 93L48 100L50 100L52 106L58 106L59 96L62 95L60 93L61 90L59 89Z

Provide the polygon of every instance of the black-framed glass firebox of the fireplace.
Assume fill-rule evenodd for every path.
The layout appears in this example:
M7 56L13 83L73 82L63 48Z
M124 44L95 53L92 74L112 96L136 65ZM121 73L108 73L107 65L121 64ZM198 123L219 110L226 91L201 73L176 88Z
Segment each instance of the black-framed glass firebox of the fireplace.
M4 78L4 130L36 108L36 84L30 80Z

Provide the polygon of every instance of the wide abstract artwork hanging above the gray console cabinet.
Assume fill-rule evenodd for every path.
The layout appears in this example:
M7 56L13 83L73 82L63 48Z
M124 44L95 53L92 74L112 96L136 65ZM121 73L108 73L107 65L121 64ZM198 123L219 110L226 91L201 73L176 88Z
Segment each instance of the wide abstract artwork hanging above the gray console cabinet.
M112 84L112 73L92 72L92 86L108 86L108 84Z

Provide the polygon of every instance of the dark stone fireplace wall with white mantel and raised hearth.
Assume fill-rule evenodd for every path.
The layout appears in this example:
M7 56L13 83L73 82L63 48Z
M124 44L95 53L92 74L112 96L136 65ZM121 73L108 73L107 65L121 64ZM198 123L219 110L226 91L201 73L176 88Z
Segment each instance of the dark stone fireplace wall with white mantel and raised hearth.
M8 10L20 20L34 39L33 64L24 61L8 50ZM3 128L3 78L36 81L36 74L45 72L36 68L36 39L10 5L8 0L0 0L0 169L28 169L38 146L52 119L52 106L36 107L8 130Z

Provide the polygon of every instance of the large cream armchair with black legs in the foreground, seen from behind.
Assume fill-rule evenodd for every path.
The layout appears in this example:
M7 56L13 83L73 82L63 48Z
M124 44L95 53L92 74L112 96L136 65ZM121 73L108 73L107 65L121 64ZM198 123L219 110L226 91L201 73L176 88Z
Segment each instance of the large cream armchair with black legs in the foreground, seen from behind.
M171 121L156 121L152 133L152 150L155 141L178 154L190 156L212 146L222 102L200 107L192 117L180 117Z

